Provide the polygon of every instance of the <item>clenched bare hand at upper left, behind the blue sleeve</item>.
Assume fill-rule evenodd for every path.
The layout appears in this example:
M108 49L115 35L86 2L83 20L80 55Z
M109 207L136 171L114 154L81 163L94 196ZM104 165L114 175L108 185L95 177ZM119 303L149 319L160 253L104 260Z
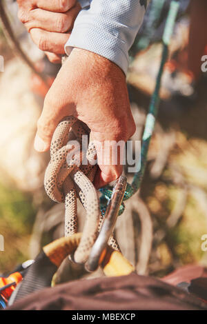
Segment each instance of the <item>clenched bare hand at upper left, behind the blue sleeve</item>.
M18 17L52 63L61 63L64 45L81 10L76 0L17 0Z

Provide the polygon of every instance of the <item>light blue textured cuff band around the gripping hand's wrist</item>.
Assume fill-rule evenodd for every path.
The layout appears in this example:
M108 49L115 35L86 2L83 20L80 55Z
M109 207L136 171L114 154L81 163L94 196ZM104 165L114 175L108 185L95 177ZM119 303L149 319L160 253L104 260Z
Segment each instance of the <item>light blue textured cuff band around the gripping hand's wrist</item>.
M70 55L72 48L82 48L106 57L117 64L126 74L128 70L128 48L126 43L112 34L90 23L77 25L68 39L65 50Z

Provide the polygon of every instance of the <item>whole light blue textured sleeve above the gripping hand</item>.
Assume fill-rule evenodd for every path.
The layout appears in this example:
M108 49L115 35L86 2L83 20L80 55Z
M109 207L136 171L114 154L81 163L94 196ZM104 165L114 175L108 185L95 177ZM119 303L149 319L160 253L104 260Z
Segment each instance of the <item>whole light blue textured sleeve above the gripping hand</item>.
M95 52L119 65L126 74L130 49L146 12L148 0L79 0L66 53L72 48Z

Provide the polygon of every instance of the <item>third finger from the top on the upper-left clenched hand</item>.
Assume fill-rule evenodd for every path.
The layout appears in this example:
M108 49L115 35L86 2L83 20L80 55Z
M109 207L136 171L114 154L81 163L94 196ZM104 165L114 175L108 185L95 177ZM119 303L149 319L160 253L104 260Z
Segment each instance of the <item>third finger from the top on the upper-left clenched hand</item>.
M30 30L32 41L43 52L53 52L55 54L65 54L64 44L68 41L70 33L62 34L58 32L47 32L39 28Z

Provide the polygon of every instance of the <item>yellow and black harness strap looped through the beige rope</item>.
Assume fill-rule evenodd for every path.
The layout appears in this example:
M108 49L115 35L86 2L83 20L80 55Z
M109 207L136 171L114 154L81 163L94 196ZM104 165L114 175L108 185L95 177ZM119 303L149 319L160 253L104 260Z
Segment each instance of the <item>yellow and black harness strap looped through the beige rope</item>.
M28 268L23 281L12 294L9 305L32 294L32 292L50 287L52 277L63 260L79 247L81 236L81 233L72 234L43 247L34 263ZM106 253L100 265L106 276L124 276L134 271L134 267L122 256L121 252L115 251L109 246L106 247Z

